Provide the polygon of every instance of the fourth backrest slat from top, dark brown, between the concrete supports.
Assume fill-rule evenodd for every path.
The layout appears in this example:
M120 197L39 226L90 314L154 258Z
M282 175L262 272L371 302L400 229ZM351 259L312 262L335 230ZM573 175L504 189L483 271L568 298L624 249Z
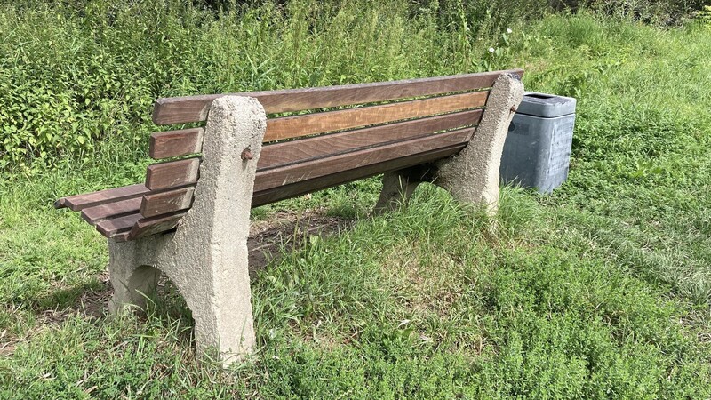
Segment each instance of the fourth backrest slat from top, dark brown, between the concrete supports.
M466 143L474 128L429 135L424 138L399 141L378 148L366 148L338 156L318 158L306 163L287 165L263 172L257 172L254 179L254 191L263 191L284 185L312 180L337 172L348 171L387 160L415 156L419 153L449 148Z

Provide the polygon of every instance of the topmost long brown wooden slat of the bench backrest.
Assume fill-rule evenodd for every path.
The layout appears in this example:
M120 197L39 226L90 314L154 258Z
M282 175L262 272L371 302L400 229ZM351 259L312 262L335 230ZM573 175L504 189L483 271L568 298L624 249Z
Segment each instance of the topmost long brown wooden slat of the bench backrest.
M268 92L230 93L260 100L268 114L314 108L340 107L377 101L433 96L450 92L465 92L491 87L505 73L523 75L522 69L479 74L439 76L372 84L345 84L316 88L287 89ZM212 100L228 94L173 97L156 100L153 122L158 125L204 121Z

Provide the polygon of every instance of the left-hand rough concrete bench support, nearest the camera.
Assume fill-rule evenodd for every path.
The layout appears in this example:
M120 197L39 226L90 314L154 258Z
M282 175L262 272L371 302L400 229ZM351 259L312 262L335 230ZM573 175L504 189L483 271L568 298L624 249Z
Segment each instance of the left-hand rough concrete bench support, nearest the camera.
M252 190L267 116L252 98L212 102L194 203L174 233L127 243L109 239L115 287L111 309L142 304L157 270L176 284L193 313L196 348L218 348L225 364L255 343L247 236Z

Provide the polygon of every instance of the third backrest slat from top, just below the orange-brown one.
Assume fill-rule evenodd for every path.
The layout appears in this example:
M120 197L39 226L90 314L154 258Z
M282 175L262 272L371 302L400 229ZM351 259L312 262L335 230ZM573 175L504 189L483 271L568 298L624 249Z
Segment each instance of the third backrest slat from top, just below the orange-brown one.
M261 149L258 169L274 168L394 140L416 138L433 132L479 124L482 112L481 109L475 109L267 145Z

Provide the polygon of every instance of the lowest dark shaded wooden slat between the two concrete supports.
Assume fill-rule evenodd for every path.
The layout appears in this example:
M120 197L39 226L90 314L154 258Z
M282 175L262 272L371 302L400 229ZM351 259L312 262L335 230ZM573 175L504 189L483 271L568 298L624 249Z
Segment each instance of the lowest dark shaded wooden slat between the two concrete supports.
M383 163L366 165L353 170L333 173L330 175L316 178L313 180L303 180L291 185L280 186L255 192L252 196L252 207L258 207L264 204L275 203L294 196L300 196L306 193L311 193L324 188L331 188L343 183L348 183L353 180L361 180L379 173L395 171L403 168L408 168L413 165L425 164L435 160L440 160L448 156L459 153L462 148L467 146L466 143L461 143L449 148L438 148L435 150L420 153L416 156L408 156L403 158L395 158Z

